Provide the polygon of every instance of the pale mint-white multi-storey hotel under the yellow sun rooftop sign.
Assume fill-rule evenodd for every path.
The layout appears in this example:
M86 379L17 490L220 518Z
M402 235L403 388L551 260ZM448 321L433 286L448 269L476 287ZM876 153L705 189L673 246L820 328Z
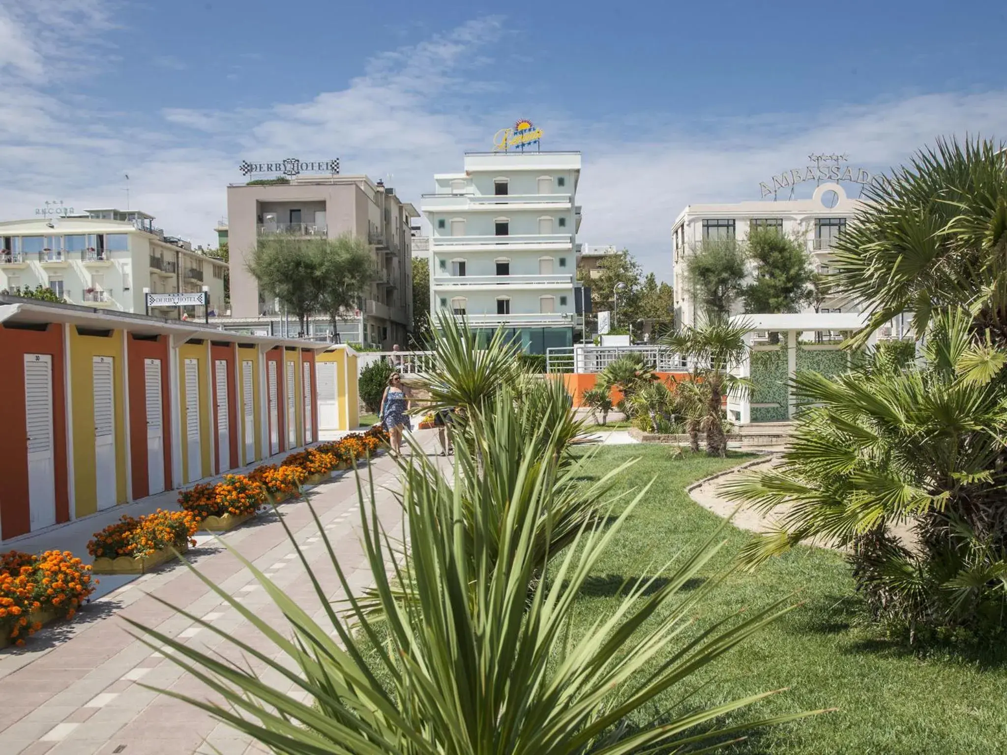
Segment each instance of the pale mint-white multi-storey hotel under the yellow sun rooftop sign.
M487 333L503 326L529 353L571 346L580 207L579 152L467 153L434 176L430 307Z

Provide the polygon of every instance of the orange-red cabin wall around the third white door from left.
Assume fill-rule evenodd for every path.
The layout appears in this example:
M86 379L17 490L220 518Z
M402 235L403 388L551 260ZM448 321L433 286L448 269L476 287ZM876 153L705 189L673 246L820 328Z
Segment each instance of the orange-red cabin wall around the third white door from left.
M137 340L127 335L126 363L129 370L129 435L131 469L133 471L133 497L144 498L150 494L147 479L147 376L144 359L161 360L161 432L164 434L164 487L171 484L171 372L168 365L168 336L159 335L156 341Z

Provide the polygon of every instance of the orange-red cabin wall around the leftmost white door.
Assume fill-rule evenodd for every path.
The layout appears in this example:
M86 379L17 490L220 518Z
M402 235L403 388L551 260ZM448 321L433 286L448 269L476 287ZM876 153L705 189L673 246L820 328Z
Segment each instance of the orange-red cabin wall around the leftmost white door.
M0 539L31 528L28 506L28 423L24 411L24 354L52 355L52 468L55 471L56 522L69 520L66 473L66 394L63 326L50 323L44 331L0 325L0 386L4 388L0 459Z

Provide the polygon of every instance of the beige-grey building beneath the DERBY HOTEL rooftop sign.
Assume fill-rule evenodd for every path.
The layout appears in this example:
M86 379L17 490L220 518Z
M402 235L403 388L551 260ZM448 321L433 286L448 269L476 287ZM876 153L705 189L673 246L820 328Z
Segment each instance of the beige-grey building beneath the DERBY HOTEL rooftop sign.
M225 327L255 330L268 324L275 329L274 321L283 314L248 271L248 260L261 240L335 239L351 234L371 245L378 276L357 308L345 313L336 335L343 342L384 348L405 344L413 316L410 220L418 216L394 188L365 175L297 175L285 183L232 184L226 233L233 321ZM321 317L312 318L309 327L306 335L313 337L331 329L327 318Z

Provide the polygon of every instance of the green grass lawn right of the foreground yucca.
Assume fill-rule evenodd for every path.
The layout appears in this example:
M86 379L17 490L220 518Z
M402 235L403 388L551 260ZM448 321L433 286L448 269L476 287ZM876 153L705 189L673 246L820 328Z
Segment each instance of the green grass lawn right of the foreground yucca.
M683 488L742 458L687 454L674 459L661 446L610 446L595 457L597 474L637 456L640 461L621 476L616 490L652 477L658 484L599 565L596 588L579 607L578 621L585 626L614 608L618 598L612 593L622 579L651 574L653 564L706 540L721 520ZM724 532L728 545L710 573L726 566L750 537L731 526ZM1007 669L951 655L924 658L879 639L859 618L849 570L836 553L801 549L755 574L735 573L697 618L702 625L789 593L797 593L795 602L803 605L704 669L697 682L711 684L694 702L715 704L790 688L732 721L821 708L839 711L761 730L727 752L918 755L1007 749Z

